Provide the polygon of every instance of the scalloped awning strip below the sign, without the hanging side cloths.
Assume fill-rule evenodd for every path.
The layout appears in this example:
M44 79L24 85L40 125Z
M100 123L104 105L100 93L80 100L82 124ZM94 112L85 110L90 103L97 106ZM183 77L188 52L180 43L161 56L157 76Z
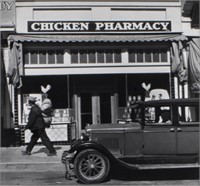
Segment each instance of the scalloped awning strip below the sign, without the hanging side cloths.
M145 35L10 35L9 42L157 42L185 41L181 34Z

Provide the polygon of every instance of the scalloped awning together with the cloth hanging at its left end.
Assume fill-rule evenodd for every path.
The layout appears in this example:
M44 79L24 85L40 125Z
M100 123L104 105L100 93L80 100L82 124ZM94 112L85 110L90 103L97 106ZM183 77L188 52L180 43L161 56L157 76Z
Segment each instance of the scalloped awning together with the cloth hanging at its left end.
M171 41L181 43L187 41L187 37L180 33L170 34L132 34L132 35L10 35L9 73L10 83L15 87L21 87L21 76L23 76L22 42L159 42ZM11 44L12 43L12 44ZM179 50L178 50L179 51ZM179 52L178 54L179 55ZM179 61L178 61L179 62ZM179 65L179 63L176 63Z

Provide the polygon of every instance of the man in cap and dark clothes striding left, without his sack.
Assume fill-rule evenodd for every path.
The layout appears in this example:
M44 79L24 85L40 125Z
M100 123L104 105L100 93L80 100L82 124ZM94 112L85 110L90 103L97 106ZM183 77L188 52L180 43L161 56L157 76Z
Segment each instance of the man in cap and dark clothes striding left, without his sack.
M31 107L29 117L28 117L28 123L25 127L26 129L31 130L33 133L31 136L31 141L26 147L25 151L22 151L23 155L31 155L31 151L33 147L36 145L39 138L41 138L42 143L46 146L46 148L49 150L49 153L47 156L54 156L56 155L56 150L54 149L49 137L46 134L45 131L45 122L42 117L42 111L38 105L35 104L36 98L30 96L28 98L28 103Z

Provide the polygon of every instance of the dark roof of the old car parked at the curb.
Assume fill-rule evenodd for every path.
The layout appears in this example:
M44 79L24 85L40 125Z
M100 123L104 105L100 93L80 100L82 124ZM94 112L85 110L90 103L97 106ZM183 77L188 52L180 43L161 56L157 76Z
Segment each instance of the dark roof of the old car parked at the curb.
M162 99L151 101L135 101L130 107L135 108L139 105L143 106L159 106L159 105L199 105L199 98L183 98L183 99Z

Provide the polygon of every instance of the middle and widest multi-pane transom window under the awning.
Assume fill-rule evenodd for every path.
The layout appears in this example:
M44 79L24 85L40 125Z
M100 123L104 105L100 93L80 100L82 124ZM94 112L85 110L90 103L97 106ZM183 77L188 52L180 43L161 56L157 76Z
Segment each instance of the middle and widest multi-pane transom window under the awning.
M121 63L121 50L72 50L72 64Z

